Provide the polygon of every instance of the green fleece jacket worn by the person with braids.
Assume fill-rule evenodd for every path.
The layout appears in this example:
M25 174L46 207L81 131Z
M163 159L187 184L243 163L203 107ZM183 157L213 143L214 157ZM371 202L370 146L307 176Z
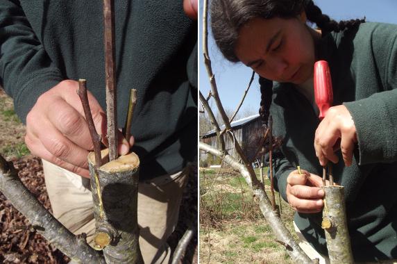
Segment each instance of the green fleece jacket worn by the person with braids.
M316 47L330 65L334 105L344 104L357 129L353 165L332 164L335 181L345 187L348 229L355 261L397 258L397 26L364 23L330 33ZM287 176L296 165L317 175L314 151L319 118L291 83L273 88L273 129L284 138L276 160L279 191L287 199ZM296 213L307 240L326 254L321 213Z

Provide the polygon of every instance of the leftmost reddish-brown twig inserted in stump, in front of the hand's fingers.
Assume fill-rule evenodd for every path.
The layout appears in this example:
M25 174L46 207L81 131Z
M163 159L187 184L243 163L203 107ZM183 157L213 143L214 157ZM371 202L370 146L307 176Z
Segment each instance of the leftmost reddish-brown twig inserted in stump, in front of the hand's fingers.
M87 121L88 130L90 131L90 135L92 138L92 145L94 145L95 167L99 168L102 165L101 164L102 163L101 135L98 135L98 133L96 133L94 120L92 119L92 114L91 114L91 110L90 110L90 104L88 102L86 83L87 83L87 81L85 81L84 79L78 80L77 94L78 94L78 97L80 97L81 104L83 105L85 120Z

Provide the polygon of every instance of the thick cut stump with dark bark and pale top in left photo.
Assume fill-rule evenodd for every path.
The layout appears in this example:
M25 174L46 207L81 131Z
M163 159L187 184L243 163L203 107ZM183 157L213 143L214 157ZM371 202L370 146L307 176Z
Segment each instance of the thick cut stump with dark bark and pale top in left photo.
M137 224L140 160L131 152L95 168L94 153L88 155L96 231L96 249L103 249L106 263L143 263ZM108 162L108 163L106 163ZM101 196L98 195L101 194Z

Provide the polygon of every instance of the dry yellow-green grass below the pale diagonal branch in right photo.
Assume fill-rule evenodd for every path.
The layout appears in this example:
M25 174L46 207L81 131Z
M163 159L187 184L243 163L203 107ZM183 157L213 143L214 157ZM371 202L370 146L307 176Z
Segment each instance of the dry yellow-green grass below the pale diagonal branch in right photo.
M259 170L255 169L259 179ZM269 186L269 179L265 180ZM200 258L203 263L292 263L276 242L244 177L228 169L200 171ZM267 187L269 196L270 190ZM294 211L282 204L282 221L294 233Z

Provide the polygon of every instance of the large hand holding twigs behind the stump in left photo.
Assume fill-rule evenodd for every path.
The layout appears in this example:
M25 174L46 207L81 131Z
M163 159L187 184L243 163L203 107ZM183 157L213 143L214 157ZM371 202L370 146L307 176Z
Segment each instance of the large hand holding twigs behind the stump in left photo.
M87 155L94 147L77 90L77 81L66 80L42 94L26 117L25 142L33 155L89 177ZM88 101L96 131L107 145L106 115L90 92ZM119 133L119 154L127 154L129 147Z

